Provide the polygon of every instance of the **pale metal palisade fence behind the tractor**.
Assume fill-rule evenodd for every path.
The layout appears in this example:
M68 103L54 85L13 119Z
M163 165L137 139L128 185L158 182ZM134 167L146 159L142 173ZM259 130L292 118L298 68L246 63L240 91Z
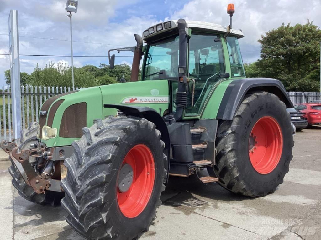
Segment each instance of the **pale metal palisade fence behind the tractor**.
M78 87L76 87L78 89ZM21 86L22 127L28 128L33 121L38 121L39 110L48 98L69 92L70 87ZM287 92L293 104L320 100L319 92ZM0 89L0 140L12 139L12 112L10 85Z

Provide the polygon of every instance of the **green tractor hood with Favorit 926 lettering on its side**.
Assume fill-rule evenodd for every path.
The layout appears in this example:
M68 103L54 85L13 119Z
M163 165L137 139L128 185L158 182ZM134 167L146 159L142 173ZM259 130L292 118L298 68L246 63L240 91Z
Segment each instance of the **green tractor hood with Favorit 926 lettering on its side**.
M162 116L169 108L169 83L167 80L152 80L110 84L91 88L84 88L65 96L58 97L50 106L48 115L56 101L64 99L56 110L52 123L53 128L57 128L57 137L42 140L47 147L58 147L71 145L79 138L59 137L59 129L64 111L69 106L86 102L87 105L87 127L91 127L94 119L103 119L108 115L116 115L117 109L103 108L103 104L117 104L128 106L150 107L155 109Z

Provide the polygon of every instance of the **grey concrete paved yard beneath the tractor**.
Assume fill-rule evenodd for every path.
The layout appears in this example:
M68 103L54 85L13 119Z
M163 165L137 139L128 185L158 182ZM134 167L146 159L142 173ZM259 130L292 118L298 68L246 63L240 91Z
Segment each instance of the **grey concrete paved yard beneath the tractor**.
M321 238L321 127L295 136L290 172L271 195L238 196L217 184L171 178L163 205L144 240ZM0 162L0 239L83 240L61 207L24 200L11 186L9 162ZM188 205L199 206L188 206Z

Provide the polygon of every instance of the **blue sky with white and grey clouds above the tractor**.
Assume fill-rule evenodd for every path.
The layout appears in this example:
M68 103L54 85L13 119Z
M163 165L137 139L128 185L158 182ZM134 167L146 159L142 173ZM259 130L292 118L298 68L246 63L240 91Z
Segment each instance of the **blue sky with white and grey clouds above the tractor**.
M310 19L321 26L320 0L79 0L78 12L73 15L74 55L107 55L108 49L135 45L134 33L142 34L149 26L169 19L185 18L226 26L228 3L234 3L236 8L233 28L242 29L245 34L239 41L244 62L260 57L257 39L282 22L304 24ZM0 53L9 52L8 16L10 9L15 9L19 12L20 54L70 55L65 4L65 0L0 0ZM117 57L116 64L131 64L131 60ZM37 63L44 67L49 61L71 62L70 57L21 56L20 70L31 73ZM100 63L107 63L107 58L74 57L77 67ZM1 85L4 70L9 68L9 56L0 55Z

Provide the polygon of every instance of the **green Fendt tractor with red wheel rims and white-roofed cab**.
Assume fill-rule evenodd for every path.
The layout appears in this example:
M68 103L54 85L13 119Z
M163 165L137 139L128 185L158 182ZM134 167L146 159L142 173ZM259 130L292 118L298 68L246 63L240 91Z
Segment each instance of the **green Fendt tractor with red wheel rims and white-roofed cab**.
M293 106L280 81L246 78L243 36L184 19L135 35L135 47L114 49L134 52L130 82L51 97L20 141L1 143L14 187L61 203L87 239L126 240L148 231L170 175L274 192L292 159Z

